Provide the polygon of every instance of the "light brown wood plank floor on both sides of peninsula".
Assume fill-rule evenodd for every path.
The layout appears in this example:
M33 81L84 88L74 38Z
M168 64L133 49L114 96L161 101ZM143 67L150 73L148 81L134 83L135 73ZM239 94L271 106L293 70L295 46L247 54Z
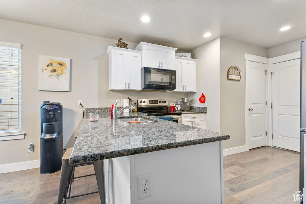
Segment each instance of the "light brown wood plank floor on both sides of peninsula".
M224 162L225 204L294 203L299 189L299 154L260 147L229 155ZM77 167L75 176L93 173L92 165ZM49 175L39 168L0 174L0 204L56 204L60 172ZM95 176L76 179L71 195L98 191ZM99 194L68 199L69 203L101 203ZM296 202L298 203L298 202Z

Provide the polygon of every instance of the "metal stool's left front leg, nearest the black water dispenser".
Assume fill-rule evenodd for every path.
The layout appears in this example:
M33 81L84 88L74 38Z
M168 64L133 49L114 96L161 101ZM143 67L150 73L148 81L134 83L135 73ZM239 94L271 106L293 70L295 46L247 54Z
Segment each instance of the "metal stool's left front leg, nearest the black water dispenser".
M58 189L58 201L57 201L58 204L63 203L64 196L67 193L67 185L69 182L70 170L71 166L68 163L68 160L62 160L62 170L61 170L61 177Z

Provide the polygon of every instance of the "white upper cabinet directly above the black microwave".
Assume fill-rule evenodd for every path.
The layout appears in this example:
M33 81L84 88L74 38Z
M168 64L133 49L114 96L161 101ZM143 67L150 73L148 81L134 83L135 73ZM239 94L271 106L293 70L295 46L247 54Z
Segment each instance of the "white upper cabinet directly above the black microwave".
M174 69L177 48L141 42L136 50L142 51L142 66L160 69Z

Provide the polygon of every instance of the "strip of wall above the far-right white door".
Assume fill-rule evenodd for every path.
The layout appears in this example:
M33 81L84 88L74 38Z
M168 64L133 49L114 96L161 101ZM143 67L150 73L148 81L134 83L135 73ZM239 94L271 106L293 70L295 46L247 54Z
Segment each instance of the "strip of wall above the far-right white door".
M301 50L301 41L306 40L306 38L300 39L300 40L296 40L290 43L286 43L283 45L279 45L276 47L272 47L270 49L268 49L268 57L272 58L272 57L277 57L280 55L284 55L284 54L289 54L289 53L293 53L293 52L297 52Z

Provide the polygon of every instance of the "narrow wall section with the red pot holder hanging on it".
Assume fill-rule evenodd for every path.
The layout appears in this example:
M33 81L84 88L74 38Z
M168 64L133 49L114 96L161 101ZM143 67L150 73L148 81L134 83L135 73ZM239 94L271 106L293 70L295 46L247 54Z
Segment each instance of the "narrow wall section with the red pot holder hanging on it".
M191 51L196 63L196 93L189 93L193 106L206 106L206 129L220 132L220 38ZM202 93L205 103L200 103Z

